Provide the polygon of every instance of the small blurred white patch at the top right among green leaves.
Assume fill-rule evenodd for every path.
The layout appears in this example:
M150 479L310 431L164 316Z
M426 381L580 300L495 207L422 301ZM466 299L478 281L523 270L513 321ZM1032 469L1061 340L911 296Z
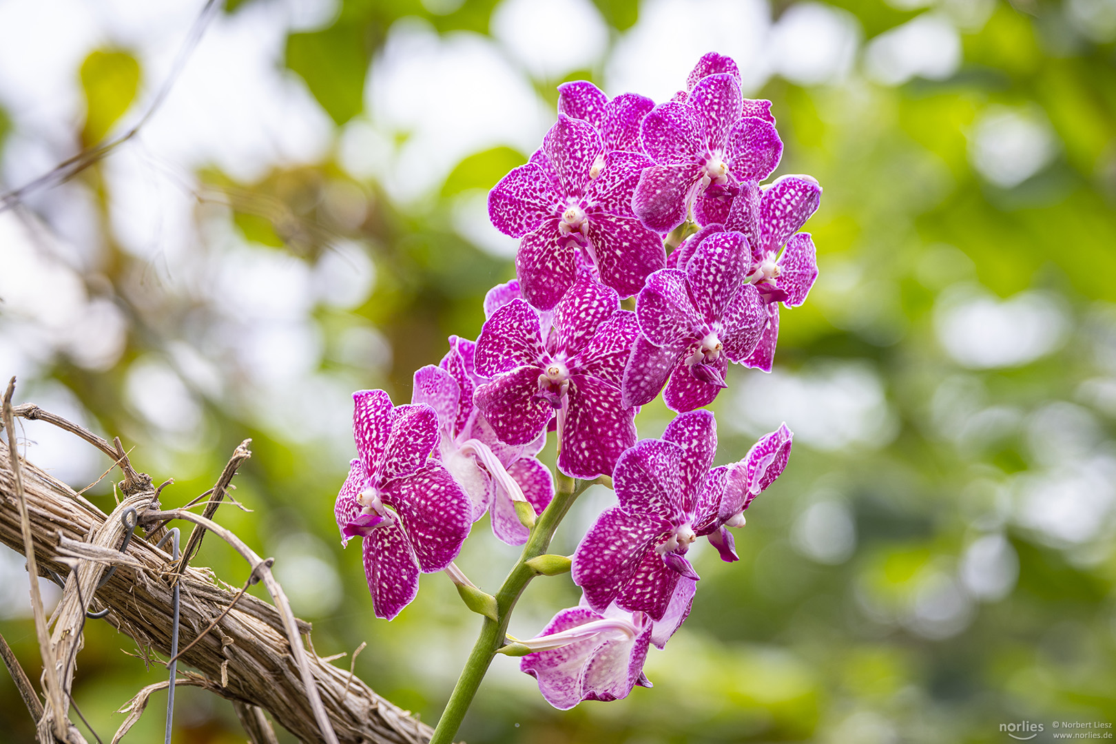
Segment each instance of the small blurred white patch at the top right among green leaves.
M872 39L865 64L869 77L884 85L913 77L944 80L961 66L961 36L945 16L923 13Z

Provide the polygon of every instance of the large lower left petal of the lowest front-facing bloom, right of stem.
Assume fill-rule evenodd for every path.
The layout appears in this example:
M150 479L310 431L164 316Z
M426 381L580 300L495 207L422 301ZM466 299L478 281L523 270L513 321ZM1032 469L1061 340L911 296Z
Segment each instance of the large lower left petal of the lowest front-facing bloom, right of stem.
M599 612L612 605L647 552L658 559L653 543L670 529L670 521L651 514L603 511L574 551L571 577L589 607Z

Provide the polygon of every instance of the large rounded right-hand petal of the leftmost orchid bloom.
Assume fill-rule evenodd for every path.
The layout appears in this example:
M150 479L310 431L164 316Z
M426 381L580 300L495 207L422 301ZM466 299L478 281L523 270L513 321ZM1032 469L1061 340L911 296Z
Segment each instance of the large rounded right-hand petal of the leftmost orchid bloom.
M441 571L461 552L473 505L439 463L384 485L384 503L398 513L423 572Z

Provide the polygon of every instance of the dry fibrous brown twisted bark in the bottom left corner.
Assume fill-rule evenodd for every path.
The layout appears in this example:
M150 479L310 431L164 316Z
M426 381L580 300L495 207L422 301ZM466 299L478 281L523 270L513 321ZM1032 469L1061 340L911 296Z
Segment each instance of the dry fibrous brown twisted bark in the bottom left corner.
M55 571L65 577L67 586L76 580L80 588L79 592L67 592L55 612L51 654L59 660L58 674L67 682L66 688L80 663L80 624L86 608L108 608L105 621L141 647L169 655L171 555L140 538L131 541L126 552L118 550L126 531L121 514L133 506L143 520L145 511L158 510L150 479L137 477L131 494L125 489L121 505L113 515L106 515L26 461L21 462L21 474L40 571L44 576L46 569ZM25 553L15 473L6 448L0 448L0 542ZM68 576L71 563L78 567L76 576ZM109 563L118 568L97 589ZM179 647L185 649L229 607L237 591L219 584L212 571L194 567L185 569L180 582ZM75 599L67 601L71 595ZM297 622L299 632L309 634L308 624ZM430 740L430 726L376 695L348 669L337 668L310 650L305 654L329 724L340 742L425 744ZM203 685L206 689L232 700L241 718L248 718L246 726L257 726L250 731L253 737L261 737L256 741L268 741L260 711L268 712L302 741L325 741L285 634L283 618L271 605L243 595L212 630L181 655L181 661L208 680Z

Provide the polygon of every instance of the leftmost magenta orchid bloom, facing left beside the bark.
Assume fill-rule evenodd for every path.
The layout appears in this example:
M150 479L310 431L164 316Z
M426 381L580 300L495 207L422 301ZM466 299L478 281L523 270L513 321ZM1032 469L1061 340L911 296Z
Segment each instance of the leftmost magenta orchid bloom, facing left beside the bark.
M383 390L353 394L357 458L337 494L341 543L364 539L364 572L376 617L394 618L419 591L419 573L441 571L461 551L472 503L430 456L437 415L427 405L393 406Z

